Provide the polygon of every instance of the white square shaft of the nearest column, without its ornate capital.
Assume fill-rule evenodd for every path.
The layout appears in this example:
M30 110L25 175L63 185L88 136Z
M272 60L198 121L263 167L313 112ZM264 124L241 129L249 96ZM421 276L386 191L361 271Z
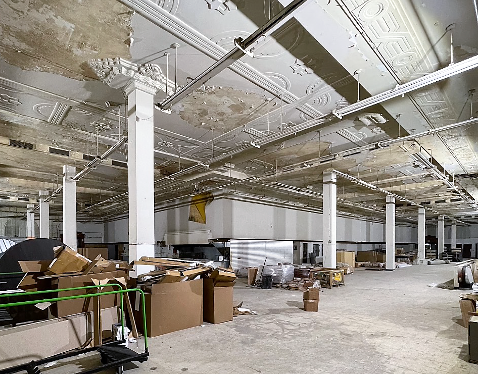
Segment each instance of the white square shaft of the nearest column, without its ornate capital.
M156 87L131 80L128 97L129 260L154 257L154 95ZM154 270L138 265L137 274Z

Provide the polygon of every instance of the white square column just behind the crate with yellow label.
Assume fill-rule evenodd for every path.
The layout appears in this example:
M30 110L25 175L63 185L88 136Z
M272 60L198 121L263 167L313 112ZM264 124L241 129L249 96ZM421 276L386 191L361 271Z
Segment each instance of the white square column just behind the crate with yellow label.
M324 268L337 268L337 175L323 174L323 265Z

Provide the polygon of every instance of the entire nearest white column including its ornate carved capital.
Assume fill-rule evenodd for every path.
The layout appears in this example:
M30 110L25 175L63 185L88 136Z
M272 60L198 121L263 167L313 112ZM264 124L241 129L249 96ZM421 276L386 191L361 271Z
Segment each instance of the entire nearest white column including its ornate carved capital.
M109 86L122 88L128 113L129 260L154 257L154 96L168 89L155 64L138 65L115 58L90 60L90 67ZM133 276L154 270L136 265Z

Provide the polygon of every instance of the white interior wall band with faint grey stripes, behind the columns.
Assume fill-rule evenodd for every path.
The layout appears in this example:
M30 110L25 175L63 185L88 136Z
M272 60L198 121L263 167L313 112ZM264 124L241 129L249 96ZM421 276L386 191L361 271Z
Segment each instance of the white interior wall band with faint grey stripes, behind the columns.
M188 217L189 205L156 212L156 240L163 240L165 233L210 230L211 238L322 241L322 215L292 207L216 196L206 207L205 225L190 222ZM128 242L127 219L109 222L105 227L109 242ZM354 242L339 243L339 249L368 250L377 247L373 243L385 242L385 224L338 217L337 227L338 242ZM396 227L397 243L416 242L417 235L416 227Z

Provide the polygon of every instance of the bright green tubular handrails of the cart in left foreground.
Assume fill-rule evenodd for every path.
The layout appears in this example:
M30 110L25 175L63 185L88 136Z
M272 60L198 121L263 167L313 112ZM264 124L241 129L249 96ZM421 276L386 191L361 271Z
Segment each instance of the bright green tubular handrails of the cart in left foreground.
M40 300L29 300L29 301L19 301L19 302L11 302L6 304L0 304L1 308L9 308L13 306L23 306L23 305L34 305L39 302L56 302L56 301L65 301L65 300L74 300L74 299L84 299L87 297L97 297L97 296L106 296L106 295L116 295L116 294L124 294L127 292L137 291L141 295L141 306L142 306L142 317L143 317L143 329L144 329L144 336L145 336L145 350L148 351L148 338L147 338L147 330L146 330L146 306L145 306L145 293L140 290L139 288L130 288L127 290L123 290L123 287L117 283L105 284L105 285L95 285L95 286L83 286L83 287L72 287L72 288L62 288L59 290L42 290L42 291L31 291L31 292L18 292L18 293L9 293L9 294L0 294L0 298L2 297L16 297L16 296L28 296L28 295L38 295L38 294L45 294L45 293L55 293L55 292L65 292L65 291L77 291L77 290L88 290L92 288L103 288L103 287L114 287L118 286L120 290L118 291L107 291L107 292L99 292L93 294L86 294L86 295L74 295L74 296L65 296L65 297L55 297L50 299L40 299ZM123 308L123 297L121 299L121 334L123 335L124 331L124 308Z

